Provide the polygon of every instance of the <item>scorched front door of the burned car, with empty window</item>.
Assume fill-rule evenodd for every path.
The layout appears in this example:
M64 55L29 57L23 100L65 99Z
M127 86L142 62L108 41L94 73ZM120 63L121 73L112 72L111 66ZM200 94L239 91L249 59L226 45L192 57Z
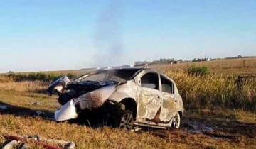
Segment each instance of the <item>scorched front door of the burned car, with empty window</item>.
M138 103L138 120L157 121L156 115L161 108L159 91L159 74L147 72L140 77L140 94Z

